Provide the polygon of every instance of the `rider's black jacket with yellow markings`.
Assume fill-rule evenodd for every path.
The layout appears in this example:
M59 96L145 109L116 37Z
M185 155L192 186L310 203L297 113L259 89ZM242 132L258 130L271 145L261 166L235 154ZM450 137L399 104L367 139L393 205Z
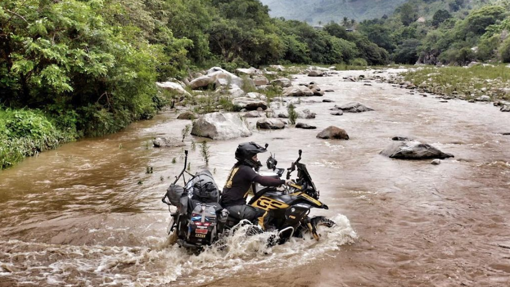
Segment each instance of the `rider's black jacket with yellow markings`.
M246 204L246 197L253 190L254 182L263 186L279 186L284 184L285 180L261 176L250 166L237 163L230 171L227 183L223 187L221 205L228 207Z

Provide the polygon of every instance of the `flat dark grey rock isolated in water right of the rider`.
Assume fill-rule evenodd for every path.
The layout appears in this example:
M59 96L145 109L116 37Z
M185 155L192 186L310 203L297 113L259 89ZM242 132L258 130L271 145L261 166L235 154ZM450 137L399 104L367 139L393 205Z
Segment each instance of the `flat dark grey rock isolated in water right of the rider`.
M437 148L418 141L393 142L381 151L382 155L397 159L445 159L453 157Z

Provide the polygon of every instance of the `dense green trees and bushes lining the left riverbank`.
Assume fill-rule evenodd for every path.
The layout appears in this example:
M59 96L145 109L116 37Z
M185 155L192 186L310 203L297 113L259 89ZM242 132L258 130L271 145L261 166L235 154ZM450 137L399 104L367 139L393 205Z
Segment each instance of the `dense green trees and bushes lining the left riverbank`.
M0 166L150 118L166 104L155 83L199 68L388 60L337 36L258 0L2 0Z

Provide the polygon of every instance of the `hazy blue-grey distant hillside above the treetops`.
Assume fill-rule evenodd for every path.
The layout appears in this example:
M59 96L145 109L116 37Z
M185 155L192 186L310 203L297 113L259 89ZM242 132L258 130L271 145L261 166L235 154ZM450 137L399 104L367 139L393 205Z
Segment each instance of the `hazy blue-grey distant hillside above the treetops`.
M406 0L261 0L272 17L310 24L340 22L344 17L361 21L391 15Z

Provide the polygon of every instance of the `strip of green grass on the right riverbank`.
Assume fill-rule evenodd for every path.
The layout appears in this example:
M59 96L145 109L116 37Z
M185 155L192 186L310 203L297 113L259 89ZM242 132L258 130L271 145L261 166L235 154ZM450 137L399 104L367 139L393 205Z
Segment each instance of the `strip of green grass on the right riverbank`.
M466 100L481 95L493 101L509 100L510 68L506 65L473 67L425 67L403 73L406 81L431 93L459 97Z

